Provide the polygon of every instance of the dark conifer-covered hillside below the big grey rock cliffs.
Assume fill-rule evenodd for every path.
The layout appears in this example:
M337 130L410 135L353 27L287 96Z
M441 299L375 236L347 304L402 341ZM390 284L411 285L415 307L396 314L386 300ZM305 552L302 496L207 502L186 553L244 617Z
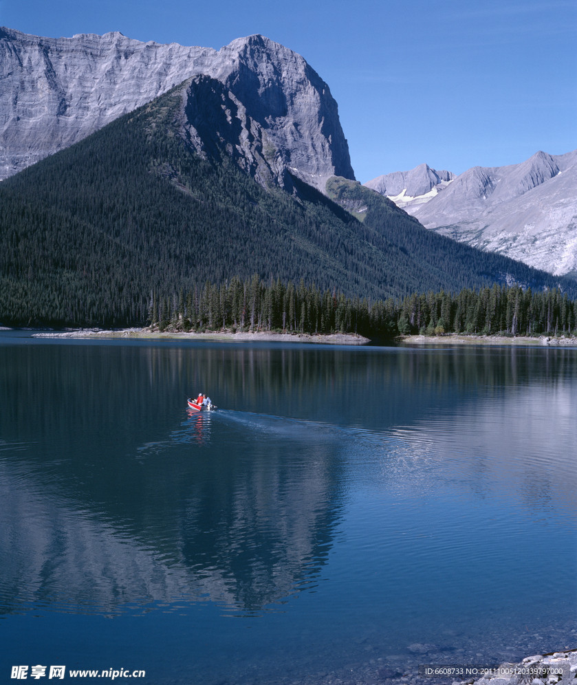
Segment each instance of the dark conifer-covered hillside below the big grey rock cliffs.
M293 195L262 188L226 154L192 153L181 108L175 89L1 184L1 323L142 325L153 293L252 274L369 301L560 280L431 234L376 193L359 221L296 179Z

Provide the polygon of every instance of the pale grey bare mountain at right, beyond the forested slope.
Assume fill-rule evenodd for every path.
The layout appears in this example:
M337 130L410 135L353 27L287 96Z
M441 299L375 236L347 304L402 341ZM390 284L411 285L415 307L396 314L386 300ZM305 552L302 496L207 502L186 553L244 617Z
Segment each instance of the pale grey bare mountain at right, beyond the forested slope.
M577 150L475 166L429 197L402 204L426 228L552 274L577 274Z

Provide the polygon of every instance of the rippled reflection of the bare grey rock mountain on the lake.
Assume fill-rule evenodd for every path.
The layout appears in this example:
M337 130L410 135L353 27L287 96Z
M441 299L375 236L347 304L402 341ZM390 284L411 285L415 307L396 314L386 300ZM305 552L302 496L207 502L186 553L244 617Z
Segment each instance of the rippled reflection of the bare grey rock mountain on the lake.
M3 607L115 613L210 599L250 613L284 602L312 587L331 545L324 459L305 470L270 450L266 466L181 471L178 492L157 480L151 501L130 494L132 518L111 513L113 500L80 508L3 464Z

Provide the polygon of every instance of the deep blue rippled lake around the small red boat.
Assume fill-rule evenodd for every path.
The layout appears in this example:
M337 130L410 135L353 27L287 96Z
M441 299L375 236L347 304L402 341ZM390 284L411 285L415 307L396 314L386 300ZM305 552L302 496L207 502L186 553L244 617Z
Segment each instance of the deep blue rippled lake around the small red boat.
M571 348L3 331L0 681L375 683L574 647L576 417Z

